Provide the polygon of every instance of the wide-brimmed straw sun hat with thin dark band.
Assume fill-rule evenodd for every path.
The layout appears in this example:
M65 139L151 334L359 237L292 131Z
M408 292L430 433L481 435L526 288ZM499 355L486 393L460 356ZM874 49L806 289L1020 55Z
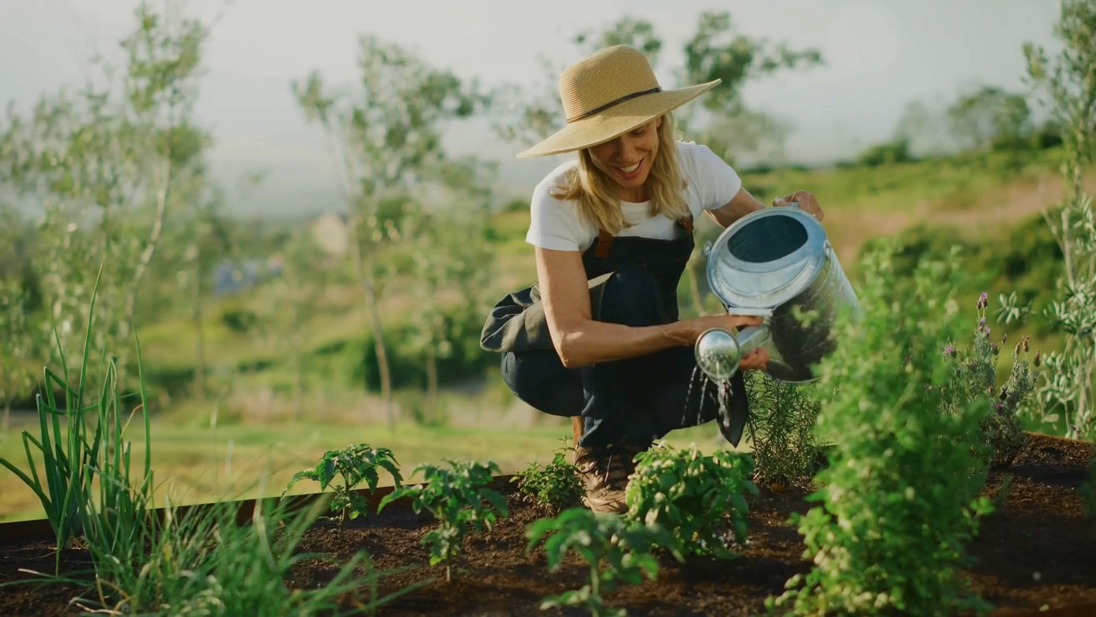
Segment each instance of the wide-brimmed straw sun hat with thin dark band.
M663 90L647 56L614 45L569 66L559 77L567 126L520 153L532 158L589 148L673 111L719 85Z

